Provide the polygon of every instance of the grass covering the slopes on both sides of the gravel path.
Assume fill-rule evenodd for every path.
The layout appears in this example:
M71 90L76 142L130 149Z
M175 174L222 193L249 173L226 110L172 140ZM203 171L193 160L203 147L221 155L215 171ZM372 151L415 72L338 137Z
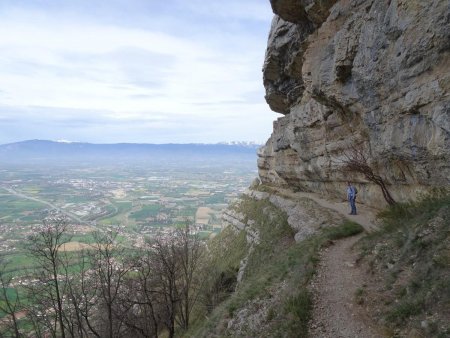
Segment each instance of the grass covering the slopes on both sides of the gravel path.
M230 226L211 244L222 262L216 276L231 276L235 289L226 289L215 306L198 312L186 336L306 337L313 305L308 286L319 250L362 228L345 222L295 242L286 214L267 199L244 197L235 211L246 228ZM358 305L367 311L386 336L447 337L450 196L436 193L398 204L379 217L379 230L363 236L355 248L358 269L366 276L353 295L355 311ZM255 232L247 243L247 234ZM244 273L237 282L239 270Z

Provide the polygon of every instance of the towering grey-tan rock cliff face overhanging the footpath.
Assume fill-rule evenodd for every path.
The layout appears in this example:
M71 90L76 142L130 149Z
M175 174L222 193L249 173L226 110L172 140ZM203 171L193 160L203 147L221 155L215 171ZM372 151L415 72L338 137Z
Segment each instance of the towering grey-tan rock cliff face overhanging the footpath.
M259 151L263 183L327 195L358 182L342 168L367 156L397 200L450 186L448 0L271 0L266 100L283 114ZM380 204L381 203L381 204Z

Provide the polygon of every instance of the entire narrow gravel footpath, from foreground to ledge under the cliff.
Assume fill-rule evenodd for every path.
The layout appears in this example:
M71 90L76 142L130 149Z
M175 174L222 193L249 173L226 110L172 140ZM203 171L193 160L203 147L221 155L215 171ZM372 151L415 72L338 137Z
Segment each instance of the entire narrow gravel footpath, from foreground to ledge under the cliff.
M358 215L349 215L347 202L331 202L318 194L278 190L290 199L309 198L322 207L337 211L346 219L361 224L367 232L377 228L376 210L357 205ZM357 304L358 293L370 276L364 266L357 264L358 253L353 250L363 234L344 238L324 248L310 291L313 314L310 337L313 338L378 338L383 337L364 306Z

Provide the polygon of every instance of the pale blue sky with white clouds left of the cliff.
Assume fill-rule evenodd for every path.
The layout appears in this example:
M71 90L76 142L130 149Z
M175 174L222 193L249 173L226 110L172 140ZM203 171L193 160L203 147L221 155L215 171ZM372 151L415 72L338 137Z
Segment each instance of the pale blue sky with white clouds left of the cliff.
M0 144L264 143L268 0L0 0Z

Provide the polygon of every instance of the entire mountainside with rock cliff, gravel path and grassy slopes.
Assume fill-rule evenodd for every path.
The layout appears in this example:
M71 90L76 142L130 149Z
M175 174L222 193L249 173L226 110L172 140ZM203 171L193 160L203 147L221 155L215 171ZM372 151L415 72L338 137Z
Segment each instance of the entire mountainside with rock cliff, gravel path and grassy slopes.
M264 86L283 116L210 244L187 336L449 337L448 1L270 3Z

